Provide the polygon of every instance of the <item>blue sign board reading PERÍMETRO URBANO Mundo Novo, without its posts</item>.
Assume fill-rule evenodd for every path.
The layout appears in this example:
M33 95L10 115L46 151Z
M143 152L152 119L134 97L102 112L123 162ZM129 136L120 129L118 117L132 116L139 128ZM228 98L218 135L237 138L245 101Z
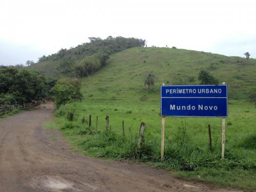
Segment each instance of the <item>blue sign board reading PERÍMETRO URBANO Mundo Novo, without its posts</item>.
M227 117L227 85L161 86L161 116Z

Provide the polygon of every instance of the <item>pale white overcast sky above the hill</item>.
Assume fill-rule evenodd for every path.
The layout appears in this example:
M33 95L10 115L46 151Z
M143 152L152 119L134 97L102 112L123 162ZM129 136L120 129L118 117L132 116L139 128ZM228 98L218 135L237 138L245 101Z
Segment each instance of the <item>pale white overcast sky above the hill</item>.
M1 0L0 65L37 61L109 35L256 58L255 26L254 0Z

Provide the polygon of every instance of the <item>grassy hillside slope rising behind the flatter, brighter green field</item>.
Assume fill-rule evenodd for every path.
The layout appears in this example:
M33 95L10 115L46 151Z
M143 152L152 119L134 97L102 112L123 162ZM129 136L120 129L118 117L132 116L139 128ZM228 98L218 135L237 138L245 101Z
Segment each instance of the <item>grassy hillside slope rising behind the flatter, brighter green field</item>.
M136 98L146 94L144 78L152 73L156 76L158 97L162 83L197 84L198 73L203 69L216 76L220 83L228 84L230 98L247 98L256 84L255 59L182 49L133 48L112 55L110 65L86 78L84 87L90 91L101 87L120 96L129 94Z

